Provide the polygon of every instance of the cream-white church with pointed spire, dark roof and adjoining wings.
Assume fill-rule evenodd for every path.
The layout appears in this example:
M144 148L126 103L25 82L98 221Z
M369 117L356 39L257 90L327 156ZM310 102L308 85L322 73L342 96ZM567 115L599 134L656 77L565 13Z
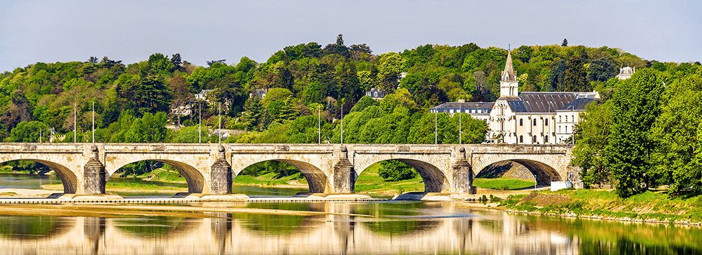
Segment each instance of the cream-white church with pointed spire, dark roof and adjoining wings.
M485 120L486 139L503 144L566 144L573 136L585 104L599 99L593 92L519 92L519 81L508 52L500 81L500 97L487 113L474 114L476 102L451 102L435 106L431 112L465 112ZM466 104L458 105L458 104ZM480 104L489 104L480 102ZM446 106L459 109L447 109ZM466 111L467 110L467 111Z

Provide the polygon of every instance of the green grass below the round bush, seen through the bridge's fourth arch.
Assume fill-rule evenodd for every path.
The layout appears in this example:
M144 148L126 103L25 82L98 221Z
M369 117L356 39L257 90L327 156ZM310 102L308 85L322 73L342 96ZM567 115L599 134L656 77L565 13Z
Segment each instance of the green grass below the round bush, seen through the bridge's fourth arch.
M356 180L357 193L406 193L411 191L424 191L424 181L417 174L416 177L403 181L385 181L378 175L380 164L376 163L364 170Z

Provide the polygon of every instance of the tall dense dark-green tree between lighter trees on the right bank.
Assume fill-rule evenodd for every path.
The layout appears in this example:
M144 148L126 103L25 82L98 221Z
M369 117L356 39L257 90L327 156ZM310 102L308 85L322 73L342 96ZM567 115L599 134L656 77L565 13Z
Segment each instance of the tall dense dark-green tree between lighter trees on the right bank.
M649 137L661 112L663 83L653 69L640 69L617 88L612 97L611 128L605 167L617 180L616 193L624 198L646 191L654 180L649 172L649 153L655 144Z

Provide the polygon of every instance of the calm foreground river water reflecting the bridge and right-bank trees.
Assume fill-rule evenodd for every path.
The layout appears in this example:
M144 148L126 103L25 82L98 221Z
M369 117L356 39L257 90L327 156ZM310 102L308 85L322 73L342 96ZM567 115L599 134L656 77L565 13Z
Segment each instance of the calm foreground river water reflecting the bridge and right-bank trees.
M43 180L46 181L46 180ZM15 186L15 188L17 188ZM192 203L200 212L2 215L0 254L702 254L698 227L509 214L465 202Z

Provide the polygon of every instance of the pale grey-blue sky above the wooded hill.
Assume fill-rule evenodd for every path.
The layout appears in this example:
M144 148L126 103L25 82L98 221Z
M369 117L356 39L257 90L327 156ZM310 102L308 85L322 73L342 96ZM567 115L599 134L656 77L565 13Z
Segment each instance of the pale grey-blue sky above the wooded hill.
M0 73L107 56L131 64L180 53L206 66L265 62L343 34L373 54L425 44L621 48L646 60L702 61L702 1L0 1Z

